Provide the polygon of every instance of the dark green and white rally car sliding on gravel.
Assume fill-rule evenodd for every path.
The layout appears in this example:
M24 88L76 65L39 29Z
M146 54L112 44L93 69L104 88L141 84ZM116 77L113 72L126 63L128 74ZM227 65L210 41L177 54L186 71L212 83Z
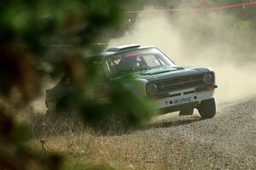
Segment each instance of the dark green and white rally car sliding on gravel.
M154 99L155 108L161 113L180 111L180 115L192 115L197 109L202 118L215 116L213 94L217 85L212 69L179 66L160 49L140 45L108 48L100 55L108 81L127 73L136 75L141 86L139 95ZM49 111L58 109L60 92L65 93L60 89L67 80L63 77L55 88L47 90Z

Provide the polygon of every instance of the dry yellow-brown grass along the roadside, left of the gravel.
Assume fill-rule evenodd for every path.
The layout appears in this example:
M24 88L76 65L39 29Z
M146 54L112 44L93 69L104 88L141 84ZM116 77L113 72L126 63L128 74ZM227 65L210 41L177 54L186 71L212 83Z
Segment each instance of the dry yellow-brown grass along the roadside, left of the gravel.
M49 121L48 119L46 119ZM44 121L46 121L44 120ZM35 121L37 122L37 121ZM29 145L40 148L40 135L45 139L47 152L57 152L67 156L67 169L107 165L102 169L168 169L169 144L159 145L150 133L137 132L105 135L88 127L81 126L73 119L60 119L55 123L38 121L42 125L38 132L38 123L33 125L35 138ZM43 125L44 124L44 125ZM40 135L39 135L40 134ZM151 152L151 153L149 153ZM169 153L170 152L170 153ZM163 155L161 155L163 154Z

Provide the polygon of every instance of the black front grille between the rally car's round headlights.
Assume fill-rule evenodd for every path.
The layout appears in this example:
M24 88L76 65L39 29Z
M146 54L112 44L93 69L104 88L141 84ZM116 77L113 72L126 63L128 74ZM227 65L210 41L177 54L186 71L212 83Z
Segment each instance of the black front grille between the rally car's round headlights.
M205 84L205 82L203 82L203 74L186 77L177 77L158 82L149 82L149 84L151 83L154 83L157 86L157 93L172 92L175 90L185 88L194 88Z

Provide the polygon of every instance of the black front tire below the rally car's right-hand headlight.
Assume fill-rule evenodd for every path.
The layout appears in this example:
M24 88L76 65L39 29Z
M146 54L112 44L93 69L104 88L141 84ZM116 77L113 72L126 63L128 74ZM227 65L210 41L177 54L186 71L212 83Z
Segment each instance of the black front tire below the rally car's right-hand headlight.
M212 118L216 114L216 105L214 99L206 99L201 101L201 104L197 106L197 110L201 118Z

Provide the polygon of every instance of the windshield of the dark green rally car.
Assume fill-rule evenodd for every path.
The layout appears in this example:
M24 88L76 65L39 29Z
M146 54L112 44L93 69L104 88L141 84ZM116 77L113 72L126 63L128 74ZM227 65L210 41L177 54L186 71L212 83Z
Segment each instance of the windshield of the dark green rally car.
M126 71L145 71L163 66L175 66L171 59L157 48L146 48L113 54L107 58L108 70L111 74Z

